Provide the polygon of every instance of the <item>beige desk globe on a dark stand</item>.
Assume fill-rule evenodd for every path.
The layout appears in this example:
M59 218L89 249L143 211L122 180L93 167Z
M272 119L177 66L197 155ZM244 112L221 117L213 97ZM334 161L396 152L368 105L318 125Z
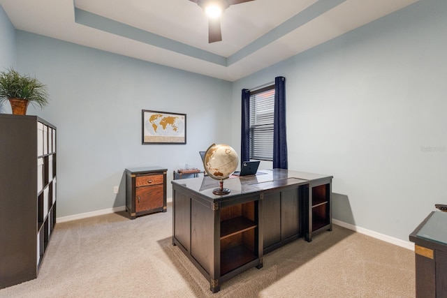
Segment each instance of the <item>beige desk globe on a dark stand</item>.
M215 189L214 194L230 193L228 188L223 188L223 179L227 179L235 172L238 162L239 158L235 149L226 144L212 144L207 149L203 158L203 167L211 178L221 181L221 187Z

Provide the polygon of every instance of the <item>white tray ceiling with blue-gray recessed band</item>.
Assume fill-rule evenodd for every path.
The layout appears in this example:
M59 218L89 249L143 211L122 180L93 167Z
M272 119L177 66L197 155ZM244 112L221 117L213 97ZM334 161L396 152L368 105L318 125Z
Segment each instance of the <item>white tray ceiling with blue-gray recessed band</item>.
M207 17L189 0L0 0L16 29L235 81L419 0L255 0Z

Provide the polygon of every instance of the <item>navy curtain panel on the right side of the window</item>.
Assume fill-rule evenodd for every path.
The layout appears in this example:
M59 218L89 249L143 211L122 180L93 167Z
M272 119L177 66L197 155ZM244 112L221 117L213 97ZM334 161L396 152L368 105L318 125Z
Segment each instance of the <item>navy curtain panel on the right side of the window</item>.
M274 78L273 168L287 169L286 78Z

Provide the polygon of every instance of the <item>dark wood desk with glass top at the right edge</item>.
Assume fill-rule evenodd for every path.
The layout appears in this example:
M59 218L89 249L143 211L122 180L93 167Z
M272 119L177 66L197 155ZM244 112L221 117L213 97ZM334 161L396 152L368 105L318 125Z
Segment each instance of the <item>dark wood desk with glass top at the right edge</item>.
M410 234L416 258L416 297L447 297L447 213L432 211Z

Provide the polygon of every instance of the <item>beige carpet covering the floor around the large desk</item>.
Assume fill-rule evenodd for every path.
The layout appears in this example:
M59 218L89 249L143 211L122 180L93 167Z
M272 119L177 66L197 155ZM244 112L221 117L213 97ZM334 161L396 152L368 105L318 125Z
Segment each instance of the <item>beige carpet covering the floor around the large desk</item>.
M168 212L58 223L38 278L0 297L415 297L413 251L335 226L264 256L215 294L172 245Z

